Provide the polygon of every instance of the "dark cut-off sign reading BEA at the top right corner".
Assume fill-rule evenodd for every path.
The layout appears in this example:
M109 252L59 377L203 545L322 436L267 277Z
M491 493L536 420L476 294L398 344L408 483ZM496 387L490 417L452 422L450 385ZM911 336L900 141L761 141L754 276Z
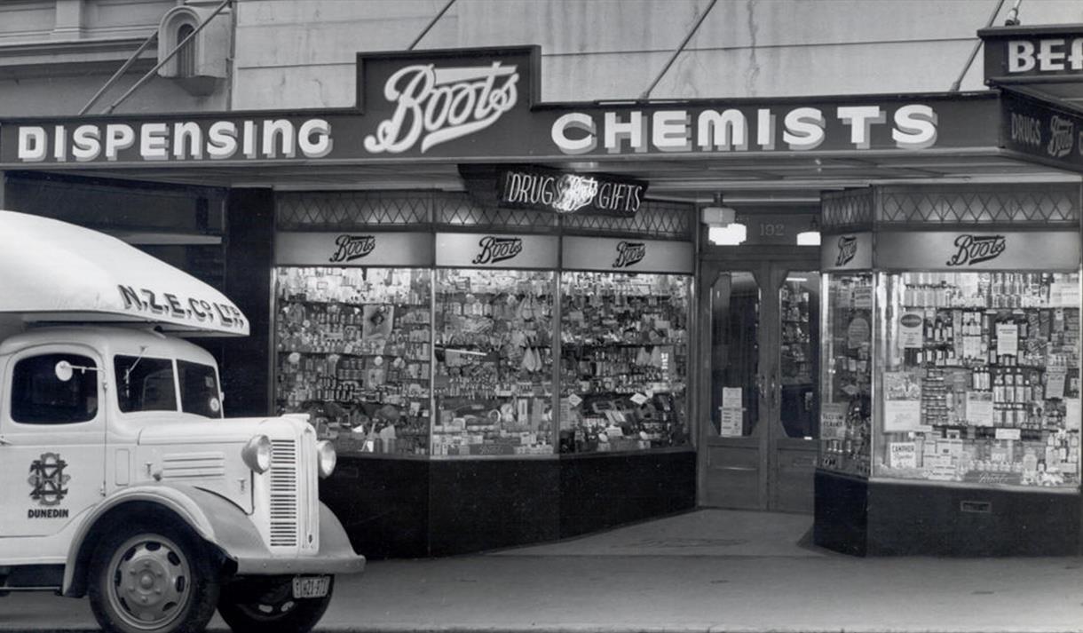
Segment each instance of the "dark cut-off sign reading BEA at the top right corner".
M1083 76L1083 26L987 28L986 80L994 83Z

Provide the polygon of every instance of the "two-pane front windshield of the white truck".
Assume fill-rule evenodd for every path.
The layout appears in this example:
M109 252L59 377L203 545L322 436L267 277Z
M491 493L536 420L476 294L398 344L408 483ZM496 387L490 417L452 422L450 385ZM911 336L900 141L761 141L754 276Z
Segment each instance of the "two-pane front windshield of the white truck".
M117 373L117 400L120 411L177 411L177 384L180 379L181 408L185 413L222 417L218 374L212 365L147 357L114 357Z

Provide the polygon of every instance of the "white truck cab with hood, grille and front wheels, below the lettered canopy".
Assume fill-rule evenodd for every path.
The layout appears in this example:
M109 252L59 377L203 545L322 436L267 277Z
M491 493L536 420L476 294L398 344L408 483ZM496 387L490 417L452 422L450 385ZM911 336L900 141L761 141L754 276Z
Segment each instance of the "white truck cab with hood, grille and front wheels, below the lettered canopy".
M0 319L0 595L89 596L125 633L315 625L365 565L318 499L334 447L304 415L225 417L213 357L145 319L42 314Z

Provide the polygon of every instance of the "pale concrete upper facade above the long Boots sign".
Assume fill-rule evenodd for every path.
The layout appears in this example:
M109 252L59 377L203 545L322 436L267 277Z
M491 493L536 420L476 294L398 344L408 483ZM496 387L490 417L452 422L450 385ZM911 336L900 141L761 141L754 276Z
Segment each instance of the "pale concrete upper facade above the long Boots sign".
M74 115L179 4L216 0L0 3L0 113ZM1000 0L721 0L652 99L943 92ZM355 55L404 50L445 0L238 0L231 79L207 95L155 78L116 112L349 107ZM457 0L417 49L540 44L544 101L642 95L710 0ZM1023 24L1083 22L1075 0L1032 0ZM814 25L814 26L813 26ZM156 62L151 47L92 111ZM963 90L980 90L979 57Z

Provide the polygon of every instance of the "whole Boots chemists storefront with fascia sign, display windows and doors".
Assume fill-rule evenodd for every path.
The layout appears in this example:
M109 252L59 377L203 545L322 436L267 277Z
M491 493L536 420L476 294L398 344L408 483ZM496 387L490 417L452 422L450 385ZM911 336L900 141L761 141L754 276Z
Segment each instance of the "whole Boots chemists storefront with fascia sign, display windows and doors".
M114 232L160 219L186 235L185 257L209 245L251 321L248 341L218 350L226 408L311 414L340 455L322 495L366 555L813 500L826 546L932 552L902 533L962 519L928 491L984 491L991 473L1013 501L964 494L993 509L960 516L1010 530L1056 507L1048 553L1077 551L1080 116L992 91L539 104L538 60L534 47L361 55L345 111L0 121L0 202L55 215L60 189L115 207L145 190L157 198ZM708 238L719 192L751 229L743 245ZM169 196L185 210L161 214ZM796 246L817 228L822 248ZM918 257L968 231L978 249L1019 232L1074 250L991 260L995 281L969 262L958 273L951 254ZM841 261L838 244L857 255ZM974 290L963 302L1020 298L935 303L949 285ZM900 343L902 321L929 340ZM1032 341L1056 352L999 358ZM1041 413L1020 402L1028 388ZM930 421L949 392L971 409ZM962 480L927 485L939 478ZM1020 499L1043 501L1015 501L1034 481L1045 492ZM877 514L884 490L897 514Z

